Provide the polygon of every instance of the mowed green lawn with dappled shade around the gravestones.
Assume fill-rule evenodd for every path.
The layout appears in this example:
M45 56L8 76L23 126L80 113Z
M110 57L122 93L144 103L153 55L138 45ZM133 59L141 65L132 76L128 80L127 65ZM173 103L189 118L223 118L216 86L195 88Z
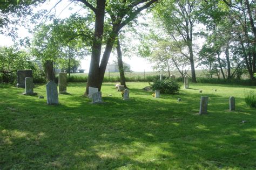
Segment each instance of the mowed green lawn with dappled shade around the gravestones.
M256 168L256 110L244 102L254 87L198 83L153 98L140 90L147 83L129 82L123 101L114 84L104 83L105 103L92 105L85 83L69 83L57 106L46 104L43 85L34 89L40 100L1 86L0 169ZM210 101L199 116L201 95Z

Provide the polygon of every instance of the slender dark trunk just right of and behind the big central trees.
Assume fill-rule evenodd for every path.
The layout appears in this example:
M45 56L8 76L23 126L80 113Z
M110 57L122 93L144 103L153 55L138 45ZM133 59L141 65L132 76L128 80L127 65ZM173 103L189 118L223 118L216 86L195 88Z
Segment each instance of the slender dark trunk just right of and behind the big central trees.
M125 83L125 75L124 75L124 65L123 65L123 59L122 59L122 51L121 51L121 46L119 42L119 38L117 36L117 62L118 62L118 68L119 68L119 73L120 73L120 83L123 85L125 88L127 88L126 83Z

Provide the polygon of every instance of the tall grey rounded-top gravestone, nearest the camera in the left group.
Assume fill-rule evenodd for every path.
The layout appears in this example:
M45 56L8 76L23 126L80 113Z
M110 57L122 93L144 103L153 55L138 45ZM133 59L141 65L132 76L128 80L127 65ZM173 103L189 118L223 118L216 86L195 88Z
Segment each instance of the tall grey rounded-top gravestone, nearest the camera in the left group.
M54 81L46 84L47 104L59 104L58 89Z

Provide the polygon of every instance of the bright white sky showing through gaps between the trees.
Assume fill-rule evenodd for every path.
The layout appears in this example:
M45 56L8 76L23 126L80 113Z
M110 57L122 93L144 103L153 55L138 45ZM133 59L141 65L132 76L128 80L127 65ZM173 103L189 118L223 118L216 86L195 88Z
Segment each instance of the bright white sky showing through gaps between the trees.
M35 11L39 9L51 9L55 4L55 1L50 1L46 2L43 5L39 6L39 8L35 9ZM70 10L72 8L72 10ZM71 15L72 12L77 12L83 13L83 10L80 10L81 6L75 5L73 3L70 4L69 1L63 0L56 6L56 16L57 18L67 18ZM55 10L52 10L52 12L55 12ZM140 18L143 19L143 18ZM32 38L32 34L28 32L28 29L25 27L20 27L18 26L18 36L20 38L25 38L25 37L30 37ZM0 34L0 46L11 46L14 45L14 42L10 37L5 37L4 35ZM85 72L89 72L89 67L90 67L90 56L86 56L84 60L81 60L81 66L80 69L85 69ZM116 54L111 54L109 63L113 63L112 61L115 60L117 61L117 56ZM151 72L153 71L152 69L152 64L147 61L144 58L139 58L136 54L133 54L131 57L127 57L123 55L123 61L125 63L128 63L131 66L131 70L134 72Z

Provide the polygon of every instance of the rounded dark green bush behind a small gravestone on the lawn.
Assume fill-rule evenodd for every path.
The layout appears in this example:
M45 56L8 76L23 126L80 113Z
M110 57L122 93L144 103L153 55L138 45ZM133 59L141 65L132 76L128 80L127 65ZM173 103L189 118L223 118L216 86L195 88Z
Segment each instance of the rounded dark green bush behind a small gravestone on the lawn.
M180 84L171 79L156 80L153 84L150 84L152 90L160 90L163 94L178 94L180 90Z

